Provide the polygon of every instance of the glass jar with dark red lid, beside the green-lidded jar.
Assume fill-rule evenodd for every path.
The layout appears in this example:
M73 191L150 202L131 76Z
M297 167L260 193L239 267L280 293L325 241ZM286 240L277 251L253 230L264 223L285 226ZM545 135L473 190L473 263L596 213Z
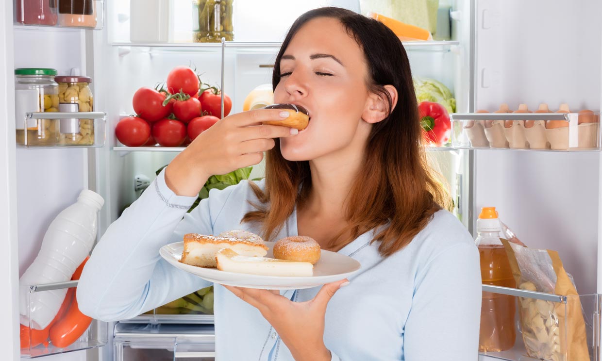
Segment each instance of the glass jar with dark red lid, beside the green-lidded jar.
M59 110L78 113L94 111L94 98L90 91L92 78L88 76L57 76ZM63 146L92 146L94 144L93 119L61 119L59 143Z

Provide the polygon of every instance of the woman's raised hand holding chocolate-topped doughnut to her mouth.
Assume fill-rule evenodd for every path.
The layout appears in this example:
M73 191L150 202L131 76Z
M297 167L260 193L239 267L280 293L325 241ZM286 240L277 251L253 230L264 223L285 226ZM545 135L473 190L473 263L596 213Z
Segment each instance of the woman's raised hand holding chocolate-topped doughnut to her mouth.
M299 132L261 122L284 120L289 115L278 109L258 109L225 117L173 159L165 171L167 187L179 196L196 196L213 174L258 164L263 152L275 146L273 138L291 137Z

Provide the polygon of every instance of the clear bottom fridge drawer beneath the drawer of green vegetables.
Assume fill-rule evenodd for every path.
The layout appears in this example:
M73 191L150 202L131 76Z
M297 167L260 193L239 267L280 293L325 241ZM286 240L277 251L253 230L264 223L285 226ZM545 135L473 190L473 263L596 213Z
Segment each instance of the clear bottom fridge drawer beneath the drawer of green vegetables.
M213 361L215 330L209 325L123 324L114 330L116 361Z

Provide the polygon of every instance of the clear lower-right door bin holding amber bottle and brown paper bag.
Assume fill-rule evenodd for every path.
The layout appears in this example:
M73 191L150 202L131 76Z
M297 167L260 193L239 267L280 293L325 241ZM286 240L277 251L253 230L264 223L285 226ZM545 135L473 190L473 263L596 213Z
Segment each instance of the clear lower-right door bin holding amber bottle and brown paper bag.
M554 295L483 285L479 361L599 361L601 301L600 294ZM515 327L501 330L512 316Z

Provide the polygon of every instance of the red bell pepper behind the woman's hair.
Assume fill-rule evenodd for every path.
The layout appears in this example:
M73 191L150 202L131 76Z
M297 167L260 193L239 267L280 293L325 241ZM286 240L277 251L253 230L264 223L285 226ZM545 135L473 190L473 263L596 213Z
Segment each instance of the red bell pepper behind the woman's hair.
M424 129L424 139L442 147L450 140L452 134L452 122L445 107L435 102L421 102L418 105L420 114L420 126Z

